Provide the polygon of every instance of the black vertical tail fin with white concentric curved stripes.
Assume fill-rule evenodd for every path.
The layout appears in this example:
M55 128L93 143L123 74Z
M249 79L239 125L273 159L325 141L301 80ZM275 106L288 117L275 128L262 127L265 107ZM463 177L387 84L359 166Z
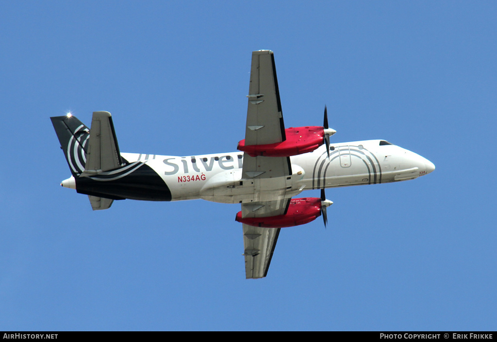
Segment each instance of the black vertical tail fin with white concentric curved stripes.
M50 119L71 173L77 177L84 171L86 164L89 129L72 115L54 116Z

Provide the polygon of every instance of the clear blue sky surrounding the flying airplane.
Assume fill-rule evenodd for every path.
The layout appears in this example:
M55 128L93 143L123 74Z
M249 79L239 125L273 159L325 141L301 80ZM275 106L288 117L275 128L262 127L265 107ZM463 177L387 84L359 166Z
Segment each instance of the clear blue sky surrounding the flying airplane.
M495 1L2 1L0 330L496 330ZM112 113L122 152L232 152L250 58L285 124L432 161L328 189L246 280L239 205L92 212L50 116ZM319 191L303 192L319 196Z

